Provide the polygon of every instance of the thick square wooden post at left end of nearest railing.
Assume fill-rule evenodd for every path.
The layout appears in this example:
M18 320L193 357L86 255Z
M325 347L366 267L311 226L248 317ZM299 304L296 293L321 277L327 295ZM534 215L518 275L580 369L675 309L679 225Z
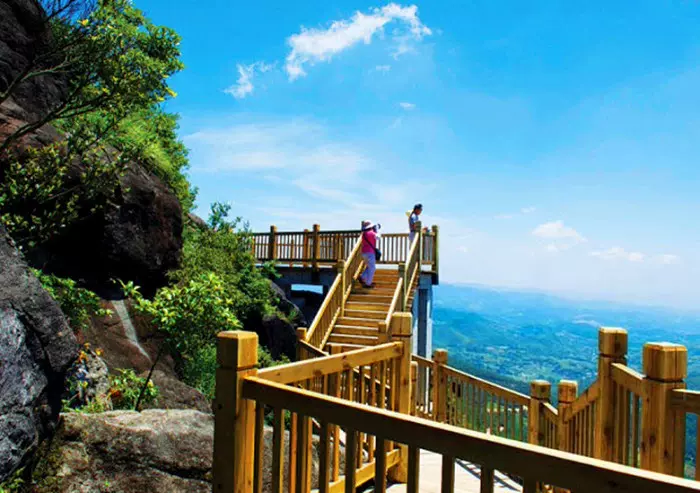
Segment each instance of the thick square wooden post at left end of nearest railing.
M229 331L218 336L214 405L213 491L253 491L255 403L243 399L243 380L258 372L258 336Z

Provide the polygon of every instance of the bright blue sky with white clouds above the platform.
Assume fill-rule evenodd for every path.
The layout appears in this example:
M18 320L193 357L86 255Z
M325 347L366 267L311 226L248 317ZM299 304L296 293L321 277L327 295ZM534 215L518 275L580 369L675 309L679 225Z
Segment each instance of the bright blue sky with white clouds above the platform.
M699 305L700 3L137 5L183 37L200 215L389 231L420 201L446 282Z

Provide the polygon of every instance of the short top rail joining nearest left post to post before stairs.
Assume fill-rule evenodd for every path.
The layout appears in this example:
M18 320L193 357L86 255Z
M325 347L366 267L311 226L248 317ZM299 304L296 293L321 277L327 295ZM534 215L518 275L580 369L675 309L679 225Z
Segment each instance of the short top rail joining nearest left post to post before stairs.
M358 349L347 353L265 368L264 370L260 370L258 375L271 382L299 382L322 375L340 373L358 366L370 365L378 361L394 359L402 354L403 346L401 343L389 342L387 344Z

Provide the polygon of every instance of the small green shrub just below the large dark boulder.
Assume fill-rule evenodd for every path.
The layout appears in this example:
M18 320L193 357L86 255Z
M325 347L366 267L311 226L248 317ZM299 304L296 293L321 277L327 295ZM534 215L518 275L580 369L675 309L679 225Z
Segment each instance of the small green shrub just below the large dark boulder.
M100 306L100 298L95 293L79 288L72 279L44 274L38 269L32 269L32 272L61 306L61 311L68 318L68 324L73 330L87 328L93 315L105 317L112 314L111 310Z

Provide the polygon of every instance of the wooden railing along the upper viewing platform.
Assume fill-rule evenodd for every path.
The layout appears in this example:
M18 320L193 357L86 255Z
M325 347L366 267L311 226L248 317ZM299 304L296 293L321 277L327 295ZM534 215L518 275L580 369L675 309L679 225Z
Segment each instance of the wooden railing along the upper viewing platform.
M318 224L311 230L285 232L271 226L269 232L250 235L252 252L258 262L274 261L314 268L335 265L346 259L359 236L359 230L321 231ZM430 266L430 271L437 275L438 227L433 226L421 237L420 264ZM380 235L377 246L382 251L379 264L401 265L409 257L412 245L408 233L388 233Z

